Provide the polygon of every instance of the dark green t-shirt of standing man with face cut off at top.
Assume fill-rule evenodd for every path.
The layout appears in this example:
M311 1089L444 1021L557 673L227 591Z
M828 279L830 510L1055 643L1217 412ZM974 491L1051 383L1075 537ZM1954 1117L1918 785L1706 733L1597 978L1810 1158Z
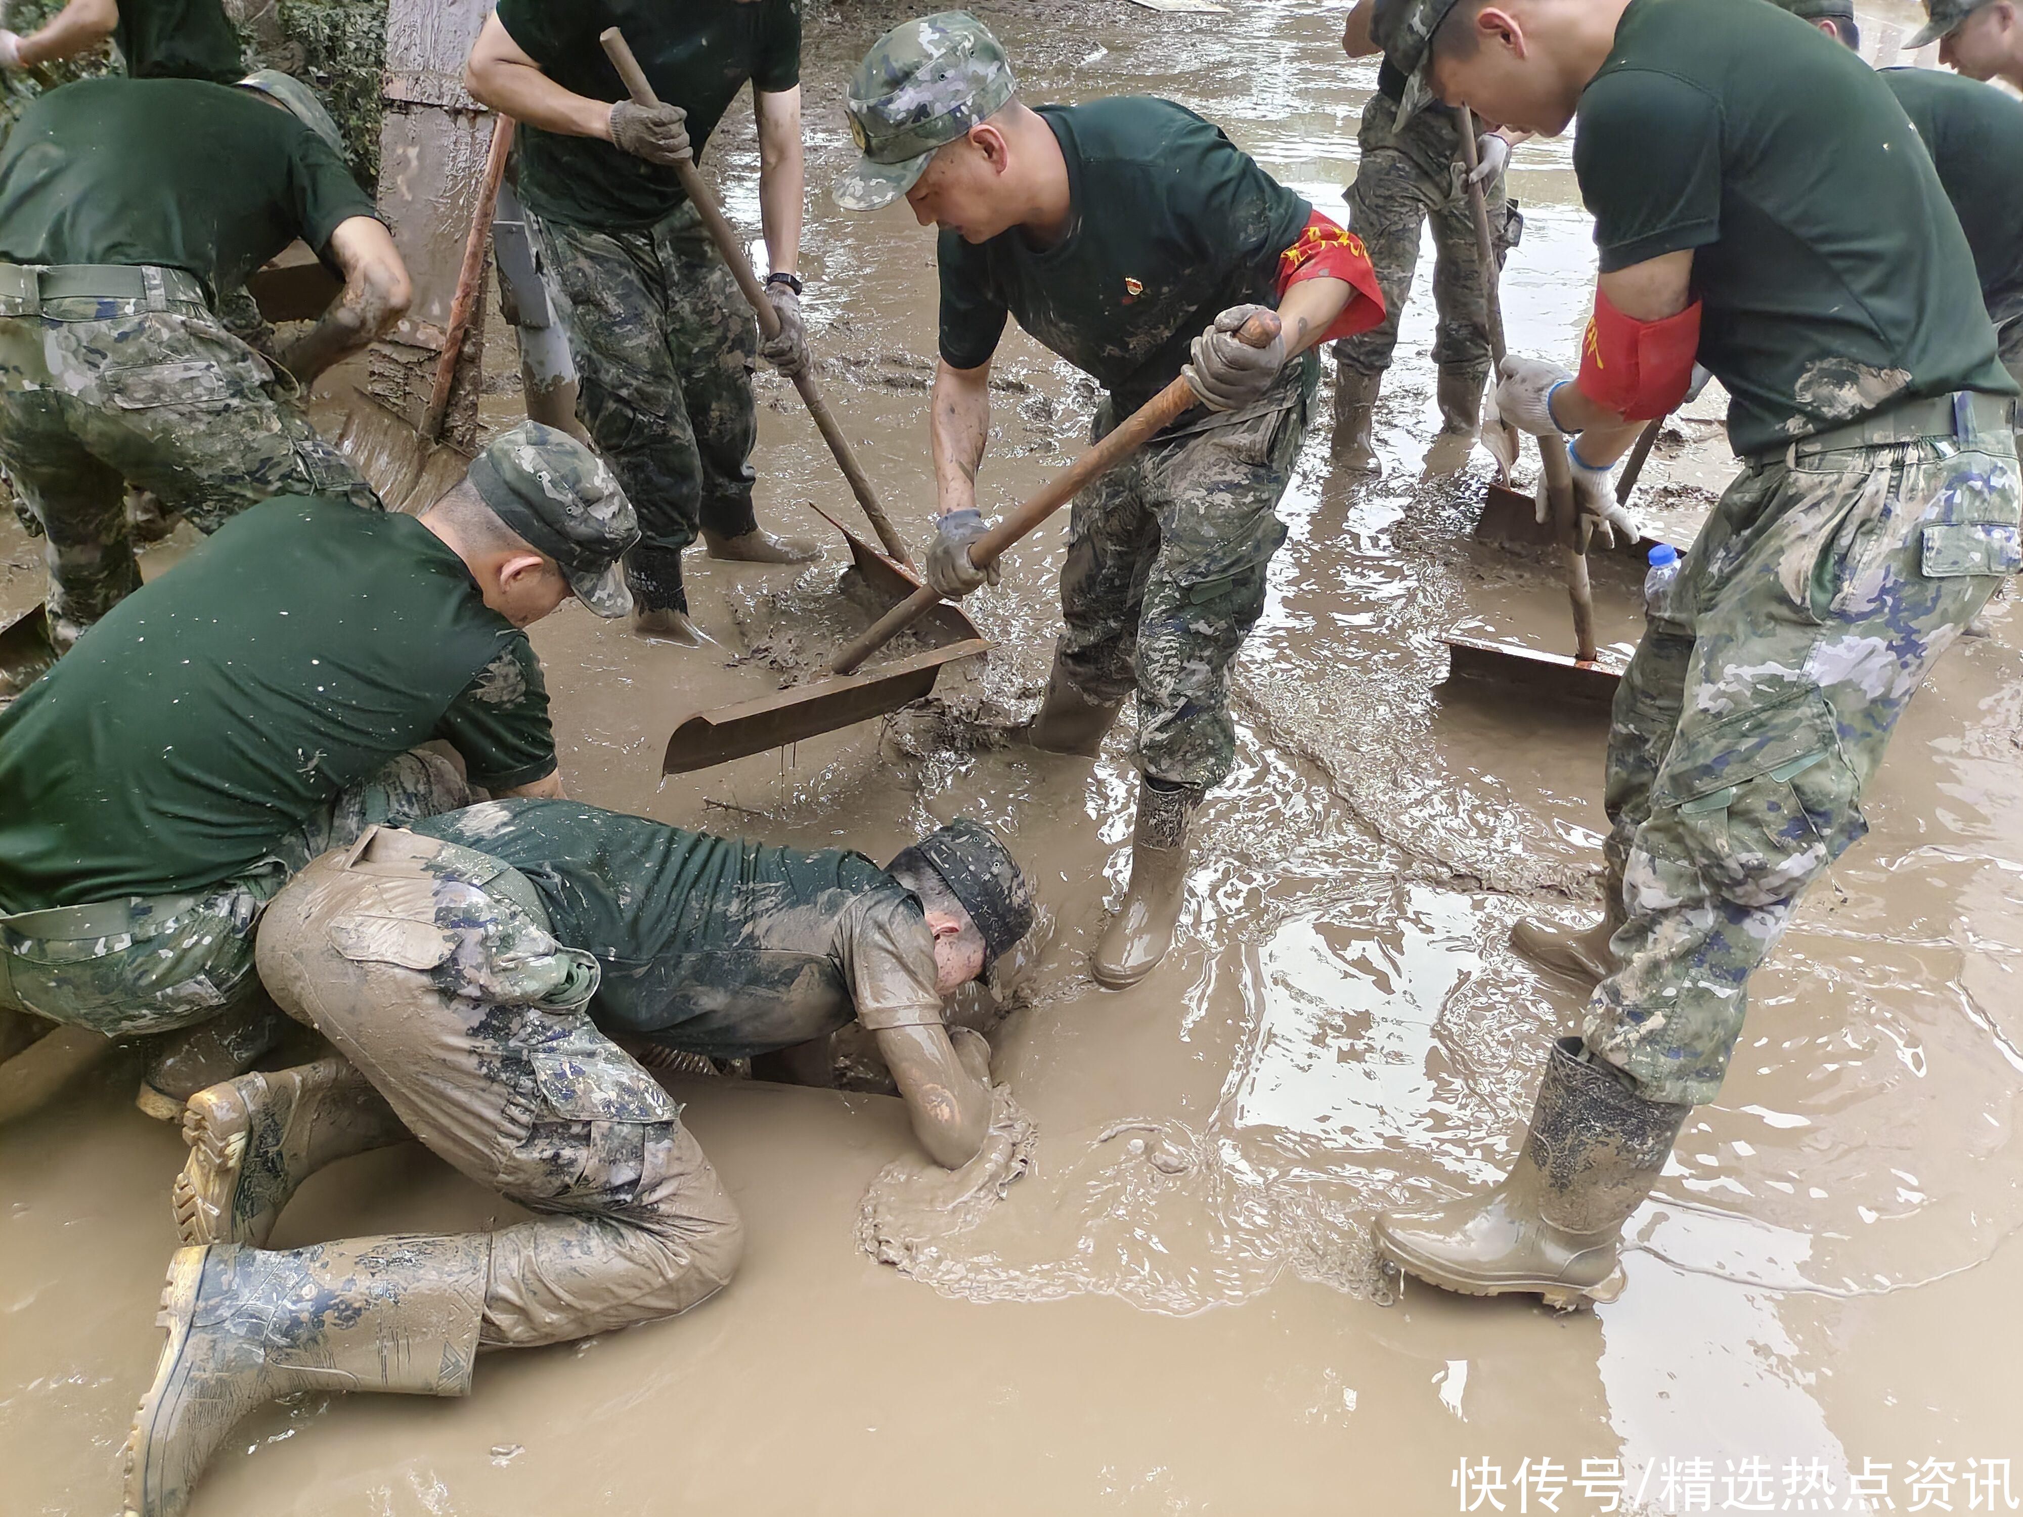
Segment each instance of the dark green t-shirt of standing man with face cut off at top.
M597 40L619 26L653 93L688 111L696 162L738 89L777 95L801 83L799 0L500 0L500 24L542 73L589 99L625 99ZM522 125L514 184L528 210L577 227L651 227L686 198L672 168L619 152L601 138Z

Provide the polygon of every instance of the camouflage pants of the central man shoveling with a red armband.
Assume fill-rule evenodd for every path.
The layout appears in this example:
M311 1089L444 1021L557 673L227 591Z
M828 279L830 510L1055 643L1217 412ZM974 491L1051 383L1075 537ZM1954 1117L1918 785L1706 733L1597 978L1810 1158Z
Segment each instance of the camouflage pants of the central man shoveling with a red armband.
M1135 756L1153 779L1208 789L1236 763L1230 661L1264 611L1317 372L1299 364L1277 411L1153 439L1074 498L1056 661L1092 702L1137 690ZM1111 425L1105 400L1092 437Z

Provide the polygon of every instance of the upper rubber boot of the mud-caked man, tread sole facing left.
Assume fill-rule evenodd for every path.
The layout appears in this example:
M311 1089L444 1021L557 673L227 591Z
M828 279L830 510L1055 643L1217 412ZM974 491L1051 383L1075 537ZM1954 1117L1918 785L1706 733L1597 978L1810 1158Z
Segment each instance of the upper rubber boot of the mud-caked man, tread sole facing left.
M265 1248L301 1181L407 1137L392 1106L340 1054L198 1090L182 1112L190 1157L172 1187L176 1230L186 1244Z

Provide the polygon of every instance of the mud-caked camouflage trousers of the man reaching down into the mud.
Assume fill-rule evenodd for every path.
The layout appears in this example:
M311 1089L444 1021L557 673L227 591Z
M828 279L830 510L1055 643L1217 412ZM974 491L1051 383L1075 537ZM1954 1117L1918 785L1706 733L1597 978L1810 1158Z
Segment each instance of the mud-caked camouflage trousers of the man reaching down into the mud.
M672 1317L722 1288L742 1222L682 1108L605 1038L597 959L524 874L378 827L269 906L259 971L433 1153L542 1214L492 1234L483 1343Z

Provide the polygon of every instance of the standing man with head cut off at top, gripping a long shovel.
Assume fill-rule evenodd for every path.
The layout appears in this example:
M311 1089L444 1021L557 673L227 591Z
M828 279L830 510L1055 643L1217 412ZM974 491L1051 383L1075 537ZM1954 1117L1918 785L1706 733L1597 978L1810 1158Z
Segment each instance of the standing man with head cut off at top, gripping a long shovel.
M662 103L611 97L599 44L625 40ZM682 190L724 109L751 81L759 119L759 210L781 332L765 358L807 364L801 324L801 12L797 0L629 6L504 0L471 49L471 93L520 121L514 182L538 227L579 376L577 411L639 510L625 562L641 633L696 641L682 550L797 562L811 542L775 538L753 516L759 328Z

